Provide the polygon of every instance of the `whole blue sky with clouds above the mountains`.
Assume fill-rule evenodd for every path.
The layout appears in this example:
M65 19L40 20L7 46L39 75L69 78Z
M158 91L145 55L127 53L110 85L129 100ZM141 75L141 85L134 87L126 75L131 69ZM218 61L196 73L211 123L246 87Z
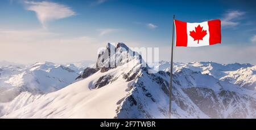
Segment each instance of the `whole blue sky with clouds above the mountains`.
M222 44L175 47L175 62L256 64L255 1L3 0L0 60L96 60L107 42L159 47L170 59L172 15L189 23L222 21Z

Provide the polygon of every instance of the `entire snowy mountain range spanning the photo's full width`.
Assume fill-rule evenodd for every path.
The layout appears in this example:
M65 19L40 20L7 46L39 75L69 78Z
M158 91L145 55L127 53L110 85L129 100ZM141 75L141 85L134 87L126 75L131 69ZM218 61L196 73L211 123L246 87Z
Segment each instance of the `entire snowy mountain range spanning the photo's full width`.
M0 118L168 118L170 62L143 66L141 55L130 51L108 44L96 66L83 72L47 62L1 67L1 89L19 91L8 99L2 97L10 89L0 91ZM256 118L255 68L175 63L172 118Z

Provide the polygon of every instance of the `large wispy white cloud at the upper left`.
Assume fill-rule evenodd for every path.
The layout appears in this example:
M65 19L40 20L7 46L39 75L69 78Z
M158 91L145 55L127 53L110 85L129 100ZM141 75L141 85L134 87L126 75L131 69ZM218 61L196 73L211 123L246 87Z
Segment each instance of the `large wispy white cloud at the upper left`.
M46 24L49 21L64 19L76 15L70 7L61 5L60 3L48 1L24 1L24 3L27 6L27 10L36 12L36 16L44 28L46 28Z

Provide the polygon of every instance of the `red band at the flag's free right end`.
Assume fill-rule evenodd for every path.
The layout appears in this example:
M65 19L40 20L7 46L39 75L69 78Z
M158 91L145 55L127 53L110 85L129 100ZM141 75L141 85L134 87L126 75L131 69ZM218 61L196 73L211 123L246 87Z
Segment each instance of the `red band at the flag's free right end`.
M221 21L216 20L210 20L208 21L209 26L209 45L213 44L220 44L221 43Z

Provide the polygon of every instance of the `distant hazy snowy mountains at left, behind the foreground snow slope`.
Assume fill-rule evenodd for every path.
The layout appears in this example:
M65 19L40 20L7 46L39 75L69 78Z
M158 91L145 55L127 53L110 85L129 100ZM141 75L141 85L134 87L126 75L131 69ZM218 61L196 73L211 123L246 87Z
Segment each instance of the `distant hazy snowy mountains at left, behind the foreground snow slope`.
M0 67L0 102L11 101L21 92L54 92L73 83L81 71L73 64L63 66L51 62Z

